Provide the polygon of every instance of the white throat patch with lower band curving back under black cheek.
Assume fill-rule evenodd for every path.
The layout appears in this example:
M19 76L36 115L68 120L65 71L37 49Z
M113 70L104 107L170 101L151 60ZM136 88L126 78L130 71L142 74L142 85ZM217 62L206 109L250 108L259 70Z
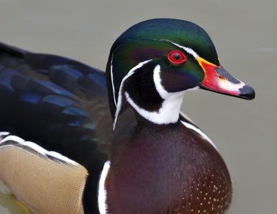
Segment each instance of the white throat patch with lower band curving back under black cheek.
M125 99L140 116L145 120L155 124L176 123L179 119L181 103L184 93L176 93L168 96L166 100L161 100L159 108L156 110L148 110L139 106L134 99L125 91Z

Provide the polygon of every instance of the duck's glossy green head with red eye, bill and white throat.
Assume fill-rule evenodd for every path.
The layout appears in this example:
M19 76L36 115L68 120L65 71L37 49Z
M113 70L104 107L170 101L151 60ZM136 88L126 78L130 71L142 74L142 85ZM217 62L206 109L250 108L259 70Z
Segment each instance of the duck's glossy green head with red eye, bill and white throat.
M206 31L179 19L150 19L126 30L111 47L106 75L114 125L126 106L152 123L176 123L189 89L255 97L221 66Z

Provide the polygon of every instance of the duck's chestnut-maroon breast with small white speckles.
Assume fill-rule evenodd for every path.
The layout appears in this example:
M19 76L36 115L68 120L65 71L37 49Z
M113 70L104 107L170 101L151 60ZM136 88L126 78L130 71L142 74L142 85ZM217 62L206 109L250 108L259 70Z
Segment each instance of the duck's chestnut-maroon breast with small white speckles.
M125 130L126 131L126 130ZM224 213L231 179L213 145L180 122L118 134L105 182L108 213Z

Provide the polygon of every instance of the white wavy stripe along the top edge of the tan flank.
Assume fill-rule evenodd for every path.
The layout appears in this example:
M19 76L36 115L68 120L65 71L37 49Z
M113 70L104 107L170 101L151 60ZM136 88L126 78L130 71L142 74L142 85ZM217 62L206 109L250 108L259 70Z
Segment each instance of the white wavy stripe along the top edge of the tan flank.
M0 132L0 133L3 133L3 132ZM24 139L21 139L18 136L14 136L14 135L6 136L3 140L0 141L0 146L1 146L1 144L5 143L7 141L17 142L17 143L19 143L19 145L23 145L23 146L26 146L28 148L35 150L39 154L42 154L42 156L51 156L51 157L54 157L55 159L59 159L60 161L64 161L64 162L72 164L72 165L78 165L78 163L63 156L60 153L45 150L44 148L37 145L36 143L30 142L30 141L24 141ZM2 146L16 146L16 145L2 145Z

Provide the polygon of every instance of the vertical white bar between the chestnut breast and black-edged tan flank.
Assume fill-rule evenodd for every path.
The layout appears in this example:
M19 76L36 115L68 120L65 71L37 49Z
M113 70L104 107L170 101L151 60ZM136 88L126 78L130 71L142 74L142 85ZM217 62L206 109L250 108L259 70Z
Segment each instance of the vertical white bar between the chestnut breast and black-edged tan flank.
M107 178L108 172L109 172L109 167L110 167L110 162L107 161L104 164L103 170L100 175L100 180L98 184L98 208L100 214L106 214L107 213L107 190L105 188L105 180Z

